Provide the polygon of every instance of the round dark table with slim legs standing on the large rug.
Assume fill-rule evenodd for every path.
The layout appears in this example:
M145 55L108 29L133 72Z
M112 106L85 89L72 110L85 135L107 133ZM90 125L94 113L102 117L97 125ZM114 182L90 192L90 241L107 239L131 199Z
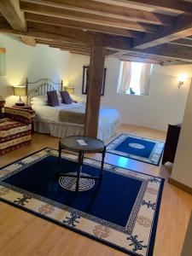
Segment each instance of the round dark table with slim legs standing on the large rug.
M85 145L80 145L78 143L79 140L83 140ZM79 159L78 159L79 168L78 168L77 175L75 175L73 173L72 174L61 173L61 151L63 149L67 149L67 150L79 153ZM82 166L83 166L85 153L102 153L102 165L101 165L99 177L82 176L83 178L97 179L101 182L104 159L105 159L105 154L106 154L106 146L104 145L104 143L101 140L94 138L94 137L70 136L70 137L65 137L65 138L61 139L61 141L59 143L59 159L58 159L59 175L66 176L66 177L76 177L77 178L76 192L79 191L79 180L81 177L81 170L82 170Z

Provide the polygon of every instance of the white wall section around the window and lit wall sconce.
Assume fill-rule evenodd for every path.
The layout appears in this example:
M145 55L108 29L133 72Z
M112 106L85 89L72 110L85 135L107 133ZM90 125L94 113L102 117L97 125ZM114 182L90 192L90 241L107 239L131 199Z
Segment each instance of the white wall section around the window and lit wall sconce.
M69 83L75 86L75 94L81 95L83 66L89 63L88 57L70 56ZM185 103L190 79L178 90L177 75L188 73L192 77L192 65L161 67L154 65L148 96L117 94L120 61L113 58L106 60L107 67L105 96L102 105L117 108L122 116L122 123L142 125L166 131L167 124L183 120Z

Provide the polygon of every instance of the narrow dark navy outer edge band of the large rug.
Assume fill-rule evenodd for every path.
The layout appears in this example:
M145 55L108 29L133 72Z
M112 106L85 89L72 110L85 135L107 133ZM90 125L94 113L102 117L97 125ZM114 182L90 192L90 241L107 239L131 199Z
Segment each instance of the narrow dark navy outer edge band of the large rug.
M57 149L55 149L55 148L45 147L45 148L39 149L38 151L32 152L32 154L37 154L37 153L39 153L39 152L41 152L43 150L46 150L46 149L51 149L51 150L56 150L57 151ZM18 162L20 160L24 160L27 157L32 156L32 154L26 154L26 156L24 156L24 157L22 157L22 158L20 158L18 160L15 160L15 161L9 163L8 165L0 167L0 171L3 168L11 166L11 165L15 164L16 162ZM67 154L72 154L72 153L67 153ZM77 154L73 154L73 155L77 156ZM92 158L87 158L87 157L84 157L84 159L94 160ZM101 162L100 160L95 160L95 161L96 162ZM106 164L108 164L108 163L106 163ZM112 164L108 164L108 165L116 166L116 165L112 165ZM125 167L121 167L121 166L116 166L116 167L119 167L119 168L124 169L124 170L131 171L131 172L137 172L137 171L125 168ZM157 177L157 176L149 175L149 174L146 174L146 173L143 173L143 172L137 172L137 173L140 173L140 174L142 173L143 175L148 176L148 177ZM150 233L150 242L149 242L149 245L148 245L148 256L152 256L153 252L154 252L154 241L155 241L155 236L156 236L158 218L159 218L159 214L160 214L160 202L161 202L161 199L162 199L162 193L163 193L163 188L164 188L164 183L165 183L165 178L163 178L163 177L158 177L158 178L161 179L161 183L160 183L160 190L159 190L158 200L157 200L155 214L154 214L154 224L153 224L153 228L152 228L151 233ZM141 254L138 254L138 253L132 253L131 251L128 252L128 250L126 250L126 249L124 249L122 247L119 247L117 244L113 244L110 241L103 240L101 237L97 238L96 236L92 236L89 233L86 233L86 232L84 232L82 230L75 229L74 227L71 227L71 226L69 226L67 224L64 224L64 223L61 224L59 221L55 220L54 218L50 218L49 216L42 215L42 214L40 214L38 212L35 212L35 211L32 211L31 209L28 209L26 207L21 207L20 205L16 205L15 203L7 201L7 200L5 200L3 198L0 198L0 201L3 201L4 203L8 204L11 207L18 208L21 211L33 214L33 215L37 216L38 218L43 218L43 219L45 219L45 220L47 220L47 221L49 221L49 222L51 222L53 224L57 224L57 225L59 225L59 226L61 226L63 228L66 228L67 230L72 230L73 232L76 232L79 235L86 236L86 237L88 237L88 238L90 238L90 239L92 239L94 241L98 241L98 242L100 242L102 244L107 245L108 247L113 247L114 249L117 249L117 250L119 250L122 253L126 253L126 254L128 254L130 256L136 256L136 255L140 256L141 255Z

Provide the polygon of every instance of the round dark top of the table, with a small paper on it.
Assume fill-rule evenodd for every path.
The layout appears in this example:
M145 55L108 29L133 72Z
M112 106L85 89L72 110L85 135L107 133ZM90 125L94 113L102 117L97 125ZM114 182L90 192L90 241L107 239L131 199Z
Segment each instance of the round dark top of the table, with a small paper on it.
M84 140L86 145L81 146L77 140ZM86 136L70 136L61 139L61 148L73 150L75 152L82 151L84 153L101 152L105 147L104 143L93 137Z

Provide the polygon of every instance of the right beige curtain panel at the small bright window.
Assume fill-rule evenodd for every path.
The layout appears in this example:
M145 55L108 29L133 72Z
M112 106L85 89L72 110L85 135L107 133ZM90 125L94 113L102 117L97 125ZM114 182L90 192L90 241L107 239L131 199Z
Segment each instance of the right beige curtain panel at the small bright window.
M139 84L141 95L148 95L150 73L151 73L151 64L148 64L148 63L143 64L141 79Z

